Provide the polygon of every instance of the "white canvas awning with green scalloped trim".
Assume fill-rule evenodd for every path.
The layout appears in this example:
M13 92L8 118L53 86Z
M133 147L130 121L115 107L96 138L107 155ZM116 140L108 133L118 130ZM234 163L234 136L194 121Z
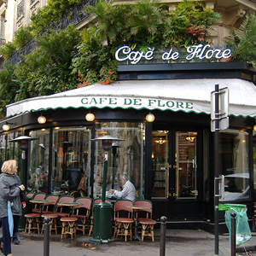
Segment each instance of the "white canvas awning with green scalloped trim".
M211 92L228 87L230 115L256 116L256 86L242 79L129 80L92 84L7 106L7 117L57 108L135 108L211 113Z

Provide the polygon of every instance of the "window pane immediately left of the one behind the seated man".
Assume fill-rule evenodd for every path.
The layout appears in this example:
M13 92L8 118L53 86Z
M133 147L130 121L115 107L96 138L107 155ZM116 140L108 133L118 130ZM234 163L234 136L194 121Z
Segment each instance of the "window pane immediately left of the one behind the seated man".
M55 127L52 166L52 189L90 195L90 129Z

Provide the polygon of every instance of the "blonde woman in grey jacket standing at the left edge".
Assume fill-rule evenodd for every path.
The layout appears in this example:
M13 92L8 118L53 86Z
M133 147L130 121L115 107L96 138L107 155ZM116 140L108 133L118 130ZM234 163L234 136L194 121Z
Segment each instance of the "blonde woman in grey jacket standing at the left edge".
M11 236L19 228L20 216L22 214L20 191L25 190L24 185L20 182L20 177L16 175L17 168L16 160L7 160L3 162L2 173L0 174L0 218L3 228L3 237L0 238L0 249L7 256L12 256ZM8 202L10 202L14 218L13 234L9 232ZM26 203L22 206L23 208L26 207Z

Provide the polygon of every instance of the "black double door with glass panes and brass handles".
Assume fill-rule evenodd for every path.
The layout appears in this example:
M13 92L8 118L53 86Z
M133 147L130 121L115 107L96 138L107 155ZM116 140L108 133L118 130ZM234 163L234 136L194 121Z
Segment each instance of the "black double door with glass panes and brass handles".
M196 131L153 131L152 198L166 201L169 218L183 216L197 200L196 148Z

